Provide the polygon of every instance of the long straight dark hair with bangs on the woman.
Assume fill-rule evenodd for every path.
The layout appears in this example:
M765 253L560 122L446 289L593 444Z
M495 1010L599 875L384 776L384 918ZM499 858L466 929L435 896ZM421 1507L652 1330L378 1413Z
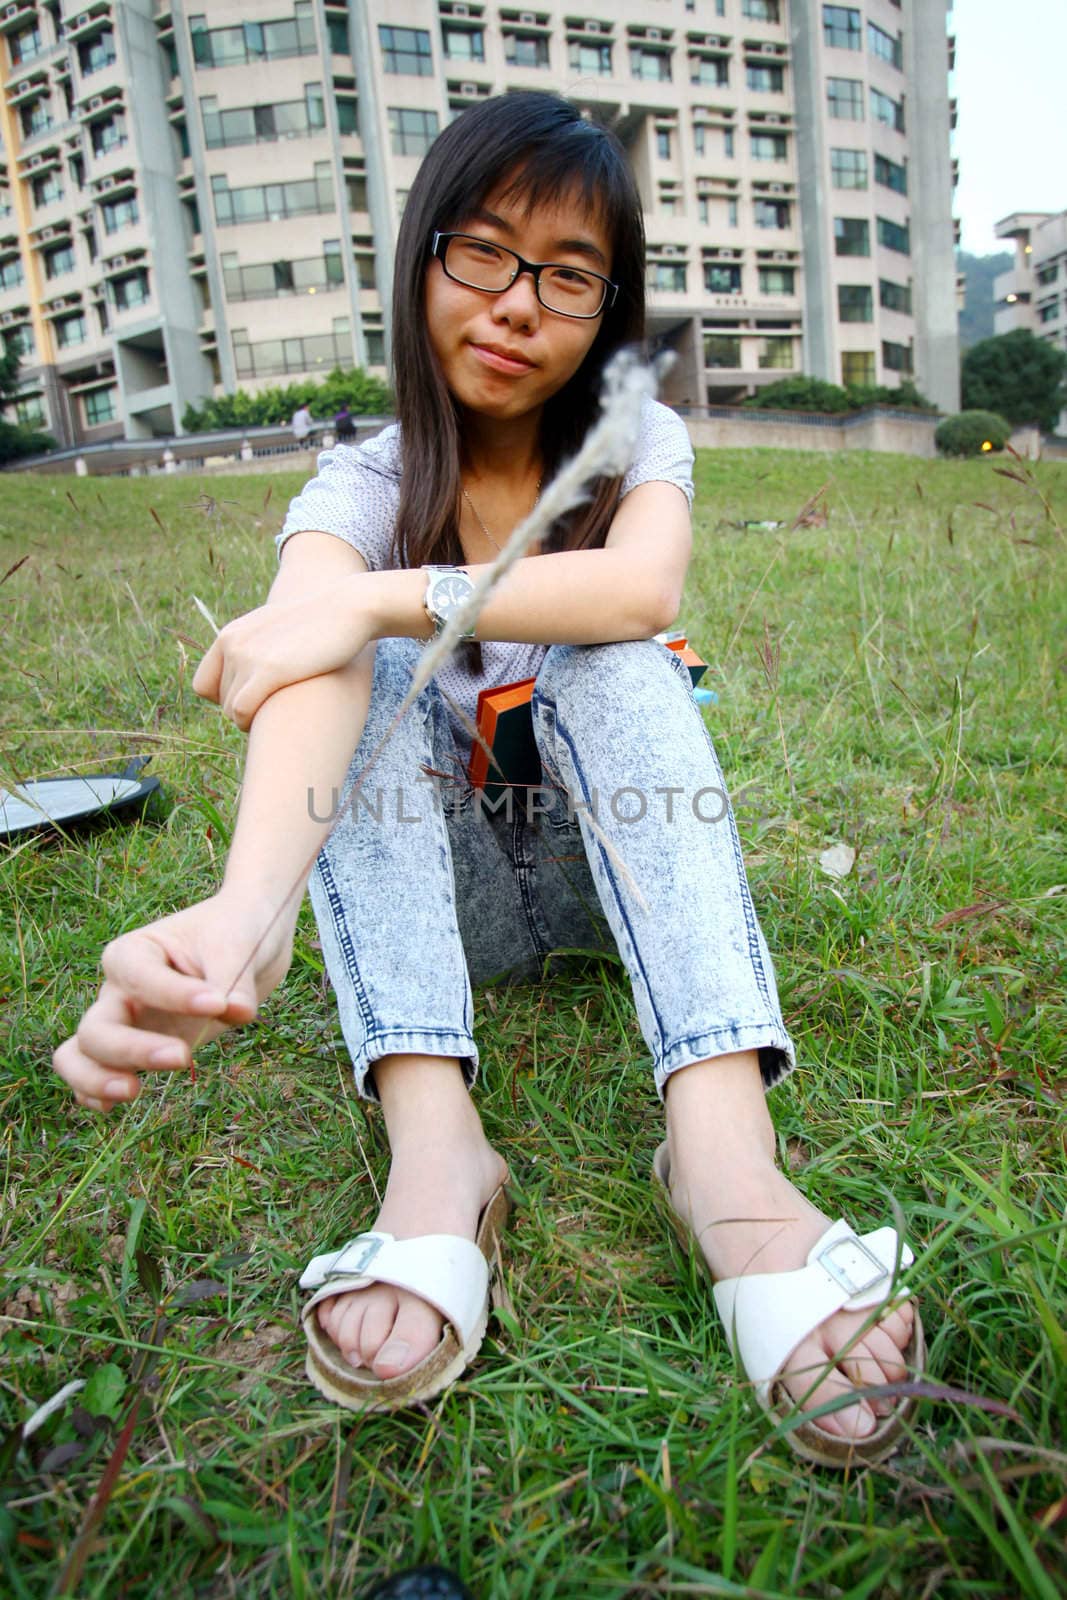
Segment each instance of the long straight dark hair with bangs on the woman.
M461 563L459 410L434 354L424 315L424 280L434 230L456 229L506 174L507 198L528 214L574 187L611 238L616 302L603 314L585 360L545 402L541 456L545 482L582 445L598 414L605 363L621 346L645 347L645 224L625 150L616 136L558 94L498 94L472 106L434 141L400 222L394 267L394 394L402 432L397 554L402 566ZM552 528L545 550L601 546L621 477L597 480L592 498ZM482 669L482 648L467 646Z

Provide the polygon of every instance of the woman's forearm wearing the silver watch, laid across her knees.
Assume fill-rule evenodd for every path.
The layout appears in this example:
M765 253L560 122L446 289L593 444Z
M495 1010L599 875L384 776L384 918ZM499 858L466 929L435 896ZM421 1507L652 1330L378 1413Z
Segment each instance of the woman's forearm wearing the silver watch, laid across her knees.
M477 582L486 566L464 562L464 571ZM370 605L378 638L430 637L426 581L422 566L346 579L358 586L357 603ZM669 610L661 586L627 550L560 550L515 562L482 608L475 638L533 645L651 638L673 621L677 610L667 616Z

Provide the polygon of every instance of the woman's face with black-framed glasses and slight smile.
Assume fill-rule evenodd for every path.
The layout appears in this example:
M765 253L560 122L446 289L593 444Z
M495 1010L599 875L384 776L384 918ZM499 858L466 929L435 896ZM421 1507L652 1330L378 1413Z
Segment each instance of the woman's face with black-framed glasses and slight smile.
M499 198L506 190L504 181L453 232L506 245L526 261L558 261L611 277L608 234L579 198L563 197L526 216L522 205ZM603 322L603 312L579 318L547 310L530 272L490 294L453 282L437 258L427 269L424 306L430 344L451 394L470 411L499 419L525 416L557 394L582 365ZM493 349L520 357L523 365L494 362Z

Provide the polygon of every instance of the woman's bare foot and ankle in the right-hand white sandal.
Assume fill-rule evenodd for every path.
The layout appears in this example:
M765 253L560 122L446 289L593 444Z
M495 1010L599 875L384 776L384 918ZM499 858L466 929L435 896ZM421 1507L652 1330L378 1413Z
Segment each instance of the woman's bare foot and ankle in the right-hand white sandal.
M733 1064L745 1056L753 1053L717 1059ZM733 1101L736 1082L731 1082L729 1067L720 1085L721 1096L715 1096L715 1080L707 1075L689 1078L686 1085L689 1072L705 1074L715 1067L712 1059L669 1080L672 1205L693 1229L715 1278L803 1267L808 1251L832 1219L809 1205L776 1168L773 1134L768 1139L769 1120L760 1130L750 1094L742 1093ZM713 1096L710 1109L707 1093ZM758 1094L761 1102L761 1085ZM737 1114L736 1118L731 1112ZM753 1115L752 1123L745 1122L747 1112ZM837 1312L789 1357L782 1384L801 1410L837 1400L856 1386L873 1387L907 1376L902 1352L912 1338L912 1304L904 1301L896 1310L888 1310L856 1339L869 1318L870 1312ZM816 1382L840 1350L846 1354ZM889 1398L859 1400L817 1418L816 1427L837 1438L867 1438L875 1432L877 1419L893 1408Z

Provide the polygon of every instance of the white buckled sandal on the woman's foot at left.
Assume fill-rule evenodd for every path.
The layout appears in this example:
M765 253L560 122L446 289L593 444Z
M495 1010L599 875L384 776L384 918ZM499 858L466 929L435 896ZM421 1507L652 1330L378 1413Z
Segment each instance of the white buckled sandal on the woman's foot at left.
M315 1256L301 1275L302 1290L315 1290L301 1310L307 1334L306 1371L315 1389L350 1411L394 1411L429 1400L454 1382L475 1358L490 1317L490 1285L507 1219L504 1184L478 1219L475 1242L456 1234L358 1234L341 1250ZM410 1290L445 1318L440 1342L398 1378L378 1378L352 1366L322 1328L315 1307L333 1294L349 1294L373 1283Z

